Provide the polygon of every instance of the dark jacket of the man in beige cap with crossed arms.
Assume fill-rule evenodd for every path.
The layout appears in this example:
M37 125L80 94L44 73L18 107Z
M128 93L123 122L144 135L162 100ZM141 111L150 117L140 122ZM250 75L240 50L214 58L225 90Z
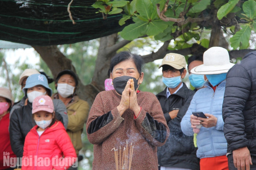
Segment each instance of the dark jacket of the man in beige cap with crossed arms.
M196 149L193 144L193 136L186 136L181 130L180 122L186 114L189 104L195 94L188 89L185 83L176 94L166 98L166 90L156 95L164 112L170 136L162 147L158 147L158 164L164 167L186 168L199 170L199 158L196 157ZM171 119L169 111L179 108L177 117Z

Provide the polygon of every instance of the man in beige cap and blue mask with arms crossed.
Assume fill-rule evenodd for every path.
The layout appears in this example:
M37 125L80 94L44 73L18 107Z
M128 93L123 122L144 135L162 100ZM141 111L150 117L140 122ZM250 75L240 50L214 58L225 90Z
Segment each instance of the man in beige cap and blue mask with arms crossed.
M169 53L164 57L160 67L163 82L167 87L156 97L164 112L170 136L165 144L157 149L159 170L199 170L193 137L184 135L180 129L180 121L195 94L182 82L186 76L185 57Z

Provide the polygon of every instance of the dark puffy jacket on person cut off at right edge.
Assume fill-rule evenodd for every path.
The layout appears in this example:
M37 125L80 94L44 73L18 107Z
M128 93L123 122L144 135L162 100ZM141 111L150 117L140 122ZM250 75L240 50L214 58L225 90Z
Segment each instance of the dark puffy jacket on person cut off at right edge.
M256 51L229 70L222 116L228 152L248 147L256 156Z

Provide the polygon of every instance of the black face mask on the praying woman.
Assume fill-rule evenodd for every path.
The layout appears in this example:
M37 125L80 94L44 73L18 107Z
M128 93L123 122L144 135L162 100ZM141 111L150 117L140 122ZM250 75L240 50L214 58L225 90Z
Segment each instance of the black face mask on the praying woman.
M118 94L122 95L122 92L124 91L125 86L129 79L133 79L134 89L136 90L138 88L138 80L136 80L134 77L120 76L120 77L113 79L113 86L114 86L116 92L118 92Z

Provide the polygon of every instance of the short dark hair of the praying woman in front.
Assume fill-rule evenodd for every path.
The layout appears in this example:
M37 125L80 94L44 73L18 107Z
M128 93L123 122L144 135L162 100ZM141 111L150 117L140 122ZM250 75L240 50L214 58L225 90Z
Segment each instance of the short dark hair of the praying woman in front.
M141 56L137 55L137 54L132 54L128 51L122 51L120 53L117 53L110 62L110 67L109 67L109 74L110 72L113 71L113 68L116 66L116 64L119 64L123 61L126 60L131 60L134 62L139 74L141 75L141 70L144 64L144 60L142 59Z

